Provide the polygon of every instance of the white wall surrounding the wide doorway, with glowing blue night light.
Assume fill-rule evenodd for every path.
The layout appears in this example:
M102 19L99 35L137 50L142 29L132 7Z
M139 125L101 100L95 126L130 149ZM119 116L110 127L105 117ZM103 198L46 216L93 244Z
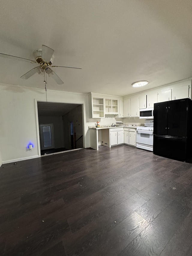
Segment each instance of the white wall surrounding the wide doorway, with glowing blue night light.
M3 163L39 157L35 100L46 101L44 89L0 84L0 145ZM47 101L83 104L88 116L88 95L47 90ZM84 124L85 147L90 146L88 125ZM26 149L31 141L32 151Z

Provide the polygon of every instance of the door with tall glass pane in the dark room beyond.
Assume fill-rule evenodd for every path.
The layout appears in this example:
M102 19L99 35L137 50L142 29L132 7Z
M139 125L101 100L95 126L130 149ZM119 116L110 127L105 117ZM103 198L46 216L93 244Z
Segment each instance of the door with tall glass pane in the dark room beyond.
M41 150L53 149L55 147L53 136L53 124L39 125L39 129Z

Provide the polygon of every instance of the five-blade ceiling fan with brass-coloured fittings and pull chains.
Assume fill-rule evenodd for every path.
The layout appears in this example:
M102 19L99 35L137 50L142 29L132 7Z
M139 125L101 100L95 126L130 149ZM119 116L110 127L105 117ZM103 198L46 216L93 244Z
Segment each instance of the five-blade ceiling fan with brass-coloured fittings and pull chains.
M39 75L44 76L44 83L46 83L46 74L48 74L49 77L52 77L56 83L63 84L63 81L58 77L57 74L51 69L52 67L61 67L61 68L73 68L73 67L65 67L65 66L52 66L53 63L53 53L54 50L49 48L46 45L42 45L42 50L35 50L34 56L35 60L25 59L17 56L12 56L4 53L0 53L0 57L9 58L9 59L18 59L21 61L31 62L32 64L39 64L39 66L32 68L30 71L28 71L26 74L22 75L21 78L28 79L35 73L38 73ZM82 68L76 68L76 69L82 69Z

